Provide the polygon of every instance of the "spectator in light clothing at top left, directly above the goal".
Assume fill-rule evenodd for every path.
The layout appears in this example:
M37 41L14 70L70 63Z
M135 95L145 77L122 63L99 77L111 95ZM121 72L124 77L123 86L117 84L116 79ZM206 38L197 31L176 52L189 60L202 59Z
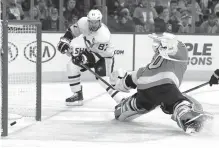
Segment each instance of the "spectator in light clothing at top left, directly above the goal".
M16 0L8 0L7 5L7 17L11 20L22 20L24 18L24 12L21 5L16 3Z

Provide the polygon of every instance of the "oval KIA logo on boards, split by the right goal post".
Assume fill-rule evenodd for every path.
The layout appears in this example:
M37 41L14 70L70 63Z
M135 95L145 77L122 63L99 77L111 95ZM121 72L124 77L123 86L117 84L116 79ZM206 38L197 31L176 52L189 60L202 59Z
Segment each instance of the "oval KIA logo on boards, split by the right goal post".
M56 55L55 47L46 41L42 41L42 53L41 53L41 60L42 63L48 62L52 60ZM31 42L24 48L24 56L30 62L36 62L37 59L37 42Z

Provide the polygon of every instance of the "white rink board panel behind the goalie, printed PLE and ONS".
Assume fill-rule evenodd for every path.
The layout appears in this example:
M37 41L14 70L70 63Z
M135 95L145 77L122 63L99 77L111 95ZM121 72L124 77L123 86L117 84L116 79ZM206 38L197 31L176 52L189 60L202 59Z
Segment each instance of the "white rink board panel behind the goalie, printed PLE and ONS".
M212 71L218 68L219 42L217 36L179 35L189 54L188 70ZM136 35L135 69L150 63L153 57L152 39Z

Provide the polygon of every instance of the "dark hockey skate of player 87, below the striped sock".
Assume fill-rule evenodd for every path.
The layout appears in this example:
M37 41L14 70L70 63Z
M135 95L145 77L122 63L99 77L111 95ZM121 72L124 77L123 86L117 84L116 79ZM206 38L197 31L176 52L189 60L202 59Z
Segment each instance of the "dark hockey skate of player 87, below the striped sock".
M83 93L82 90L80 90L65 100L66 106L82 106L83 99Z

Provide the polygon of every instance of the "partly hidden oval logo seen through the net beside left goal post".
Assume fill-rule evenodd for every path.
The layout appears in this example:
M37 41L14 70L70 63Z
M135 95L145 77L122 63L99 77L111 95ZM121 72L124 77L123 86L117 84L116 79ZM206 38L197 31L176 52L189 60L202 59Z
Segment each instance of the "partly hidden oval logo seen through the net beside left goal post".
M8 42L8 62L14 61L18 57L18 48L11 42Z

